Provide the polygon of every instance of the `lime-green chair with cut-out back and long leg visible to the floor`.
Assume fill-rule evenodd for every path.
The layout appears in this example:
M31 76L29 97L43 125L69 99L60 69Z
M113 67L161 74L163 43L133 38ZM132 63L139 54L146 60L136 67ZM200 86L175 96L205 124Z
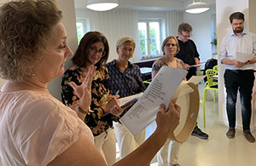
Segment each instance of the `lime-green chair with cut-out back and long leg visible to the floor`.
M207 82L205 83L204 96L203 100L200 100L203 107L203 116L204 116L204 127L206 127L206 108L205 101L207 99L207 90L213 90L213 102L215 102L215 92L218 90L218 83L213 82L213 76L216 75L216 71L213 69L207 69Z

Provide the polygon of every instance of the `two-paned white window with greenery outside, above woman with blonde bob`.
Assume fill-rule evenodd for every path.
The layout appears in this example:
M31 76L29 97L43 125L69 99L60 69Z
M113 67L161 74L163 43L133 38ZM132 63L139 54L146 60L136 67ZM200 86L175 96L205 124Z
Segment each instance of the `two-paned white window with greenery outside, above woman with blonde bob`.
M160 56L160 29L160 20L140 20L138 22L142 60Z

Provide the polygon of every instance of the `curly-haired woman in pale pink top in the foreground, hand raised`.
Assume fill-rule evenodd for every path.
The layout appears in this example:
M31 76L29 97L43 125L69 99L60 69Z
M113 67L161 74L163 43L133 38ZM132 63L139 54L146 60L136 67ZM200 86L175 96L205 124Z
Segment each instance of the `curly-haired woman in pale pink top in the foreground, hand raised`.
M70 83L80 98L75 110L47 88L47 83L63 74L65 61L73 54L55 2L12 1L0 11L0 73L8 79L0 92L3 165L107 165L90 129L79 118L86 115L79 110L90 106L96 67L90 66L80 86ZM158 128L148 141L115 165L149 165L178 124L180 107L170 102L165 110L160 105Z

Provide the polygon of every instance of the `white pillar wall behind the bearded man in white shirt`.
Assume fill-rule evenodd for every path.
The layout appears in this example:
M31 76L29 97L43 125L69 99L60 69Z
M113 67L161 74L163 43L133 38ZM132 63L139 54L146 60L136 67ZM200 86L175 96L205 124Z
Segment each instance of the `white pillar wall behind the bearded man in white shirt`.
M254 0L216 0L216 13L217 13L217 36L218 36L218 52L221 44L222 38L232 31L230 26L229 16L230 14L241 11L245 14L245 29L251 27L255 32L255 11L256 5ZM250 2L250 6L249 6ZM248 18L252 18L249 20ZM252 23L252 25L251 25ZM221 65L218 60L218 123L224 124L228 126L228 119L226 116L225 109L225 98L226 93L224 89L224 65ZM237 128L241 129L241 105L240 100L238 99L236 106L236 118L237 118ZM252 120L255 116L252 117ZM255 128L256 121L253 120L251 123L251 128Z

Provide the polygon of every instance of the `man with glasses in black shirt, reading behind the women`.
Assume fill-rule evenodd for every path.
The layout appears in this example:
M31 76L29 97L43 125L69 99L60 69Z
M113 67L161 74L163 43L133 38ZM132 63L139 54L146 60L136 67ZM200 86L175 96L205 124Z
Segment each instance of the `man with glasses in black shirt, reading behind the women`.
M178 59L183 60L185 63L185 67L188 69L188 74L186 76L187 80L196 75L196 67L190 66L201 64L195 43L193 40L189 39L189 37L192 36L191 32L192 26L190 26L188 23L182 23L178 26L177 41L180 50L175 56ZM207 140L209 137L209 135L202 132L201 129L198 128L197 124L191 135L197 136L203 140Z

